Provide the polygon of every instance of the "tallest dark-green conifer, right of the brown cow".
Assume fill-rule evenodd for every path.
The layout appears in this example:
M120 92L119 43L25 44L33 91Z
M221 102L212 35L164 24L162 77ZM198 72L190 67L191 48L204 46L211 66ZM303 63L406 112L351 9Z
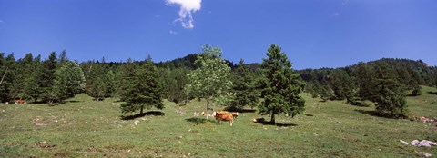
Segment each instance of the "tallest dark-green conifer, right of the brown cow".
M267 56L269 58L263 59L261 65L264 78L260 84L264 100L259 104L259 114L271 114L270 122L275 123L275 114L294 117L303 112L305 100L299 94L305 84L278 45L271 44Z

